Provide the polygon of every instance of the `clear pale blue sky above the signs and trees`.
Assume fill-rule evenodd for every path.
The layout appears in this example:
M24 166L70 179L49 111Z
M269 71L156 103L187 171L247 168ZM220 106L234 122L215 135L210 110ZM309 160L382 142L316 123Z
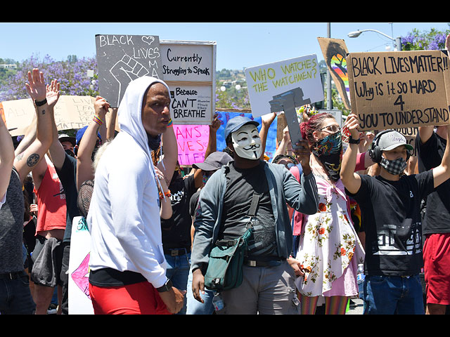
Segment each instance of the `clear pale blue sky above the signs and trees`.
M349 32L375 29L390 37L406 36L413 28L450 29L446 22L331 22L331 37L344 39L350 53L393 49L392 41L376 32L358 38ZM32 54L54 60L96 55L96 34L158 35L166 40L216 41L216 69L243 70L302 55L323 60L317 37L327 37L326 22L1 22L0 58L21 61Z

